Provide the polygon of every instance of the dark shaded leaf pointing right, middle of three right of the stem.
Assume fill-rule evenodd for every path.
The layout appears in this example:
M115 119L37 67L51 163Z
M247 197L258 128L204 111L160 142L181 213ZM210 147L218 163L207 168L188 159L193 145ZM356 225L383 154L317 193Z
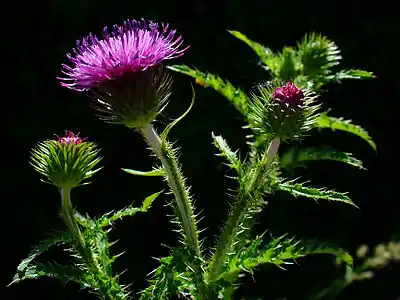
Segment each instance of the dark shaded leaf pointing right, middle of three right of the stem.
M351 153L336 151L331 148L304 148L293 147L280 156L280 164L284 169L302 166L306 161L334 160L349 164L359 169L365 169L362 162Z

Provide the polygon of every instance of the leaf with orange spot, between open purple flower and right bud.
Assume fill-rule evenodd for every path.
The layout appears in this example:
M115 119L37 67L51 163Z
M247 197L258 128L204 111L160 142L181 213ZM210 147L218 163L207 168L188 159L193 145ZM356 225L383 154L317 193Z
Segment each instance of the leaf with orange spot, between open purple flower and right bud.
M234 87L228 81L210 73L202 73L199 70L191 69L185 65L168 66L168 69L193 77L196 79L196 83L199 83L202 86L212 87L227 98L240 113L245 116L247 115L247 104L249 101L247 95L242 90Z

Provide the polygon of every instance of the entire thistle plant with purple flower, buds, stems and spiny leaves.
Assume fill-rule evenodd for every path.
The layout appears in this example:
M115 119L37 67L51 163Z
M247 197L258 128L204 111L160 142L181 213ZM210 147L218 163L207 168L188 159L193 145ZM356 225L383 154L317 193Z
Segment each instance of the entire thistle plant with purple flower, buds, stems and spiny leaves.
M189 48L168 24L127 20L123 25L114 25L111 33L105 28L102 37L89 34L77 42L72 54L67 55L69 64L62 65L64 76L58 78L61 85L88 94L90 105L101 120L124 125L143 137L159 165L150 171L122 170L165 179L172 194L172 199L165 201L173 207L171 222L180 243L171 248L169 256L159 259L146 289L131 293L120 284L120 274L112 270L118 255L110 251L111 225L122 217L147 211L160 192L146 198L141 207L128 206L99 218L78 213L71 202L71 190L99 170L95 169L100 162L99 148L67 132L63 138L39 143L31 160L34 168L61 191L61 216L66 229L35 248L19 265L13 282L50 276L74 281L101 299L232 299L239 277L262 264L282 267L299 257L322 253L335 256L352 270L352 256L335 245L286 235L270 239L252 236L252 228L259 213L266 209L267 199L276 191L356 206L347 193L317 188L285 175L309 160L334 160L362 169L361 161L349 153L326 148L292 148L285 153L279 150L282 143L304 139L322 128L353 133L376 149L360 126L328 116L318 94L330 81L372 78L372 73L334 73L339 50L326 37L314 33L306 35L296 49L285 47L276 54L239 32L230 33L252 47L269 72L268 81L251 93L185 65L166 67L167 60L183 55ZM163 129L153 126L171 96L170 70L189 75L201 86L221 93L243 115L246 128L251 130L246 155L239 155L222 136L212 133L218 155L235 174L236 181L228 218L213 249L202 246L194 197L185 183L178 151L168 140L170 130L189 113L194 92L192 103L182 116ZM36 262L51 246L65 246L71 254L71 265Z

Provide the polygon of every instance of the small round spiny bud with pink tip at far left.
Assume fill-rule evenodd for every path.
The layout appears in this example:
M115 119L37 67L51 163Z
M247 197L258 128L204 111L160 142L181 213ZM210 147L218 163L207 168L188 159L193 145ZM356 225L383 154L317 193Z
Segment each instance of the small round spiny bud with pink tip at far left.
M54 140L39 142L31 151L30 164L36 171L59 188L74 188L84 184L101 168L99 148L71 131Z

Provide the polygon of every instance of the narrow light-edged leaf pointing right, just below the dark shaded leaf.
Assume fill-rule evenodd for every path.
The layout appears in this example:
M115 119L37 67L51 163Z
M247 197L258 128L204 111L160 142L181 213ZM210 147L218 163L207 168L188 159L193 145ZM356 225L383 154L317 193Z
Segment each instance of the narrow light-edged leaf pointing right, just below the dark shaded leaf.
M329 201L339 201L357 207L357 205L355 205L346 194L328 190L326 188L307 187L304 186L303 183L295 183L294 181L288 181L285 183L280 182L278 183L277 188L281 191L289 192L295 197L302 196L313 198L314 200L325 199Z

